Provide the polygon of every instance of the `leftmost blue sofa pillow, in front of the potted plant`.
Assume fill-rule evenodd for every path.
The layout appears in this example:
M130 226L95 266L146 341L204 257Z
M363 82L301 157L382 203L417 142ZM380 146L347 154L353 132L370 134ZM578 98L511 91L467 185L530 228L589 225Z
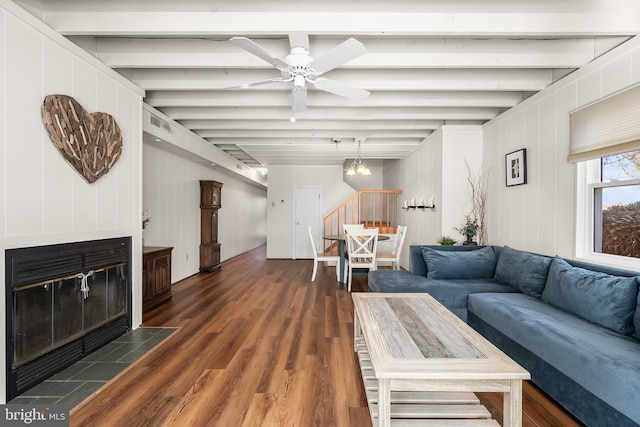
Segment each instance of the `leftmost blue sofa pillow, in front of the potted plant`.
M437 251L422 248L430 279L493 279L496 254L491 246L473 251Z

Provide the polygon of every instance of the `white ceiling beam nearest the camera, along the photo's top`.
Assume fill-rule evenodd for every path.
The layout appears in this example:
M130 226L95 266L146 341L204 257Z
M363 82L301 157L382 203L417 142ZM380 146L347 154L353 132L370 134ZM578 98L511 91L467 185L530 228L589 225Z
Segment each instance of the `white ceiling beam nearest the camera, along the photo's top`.
M151 5L152 6L152 5ZM151 7L150 6L150 7ZM433 37L579 37L640 33L640 6L626 10L571 10L570 13L421 12L207 12L50 10L44 21L64 35L103 36L267 36L305 32L316 35Z

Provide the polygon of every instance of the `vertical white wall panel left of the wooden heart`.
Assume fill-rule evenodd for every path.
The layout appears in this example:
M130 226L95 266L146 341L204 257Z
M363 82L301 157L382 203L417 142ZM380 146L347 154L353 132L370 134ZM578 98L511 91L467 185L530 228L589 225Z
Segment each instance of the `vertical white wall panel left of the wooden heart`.
M42 38L6 19L6 227L8 236L42 232ZM27 81L30 84L16 84ZM20 159L20 161L16 161Z

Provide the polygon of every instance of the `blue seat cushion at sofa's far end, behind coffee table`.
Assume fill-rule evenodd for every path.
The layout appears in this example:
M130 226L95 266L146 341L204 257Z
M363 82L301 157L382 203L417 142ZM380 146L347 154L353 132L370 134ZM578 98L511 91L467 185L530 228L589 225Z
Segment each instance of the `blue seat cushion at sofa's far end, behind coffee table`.
M462 320L467 320L467 297L475 292L516 292L495 280L434 280L401 270L369 272L369 292L428 293Z

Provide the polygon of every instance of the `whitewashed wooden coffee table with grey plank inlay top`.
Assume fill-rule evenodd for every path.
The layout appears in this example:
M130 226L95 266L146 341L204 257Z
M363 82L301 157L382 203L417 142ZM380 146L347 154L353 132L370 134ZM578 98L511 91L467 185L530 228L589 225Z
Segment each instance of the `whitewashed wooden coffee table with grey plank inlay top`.
M460 418L456 425L464 425L467 418L486 418L483 414L488 412L477 400L455 404L479 391L504 393L503 425L522 426L522 380L530 379L529 372L430 295L353 293L352 297L354 341L363 377L377 381L377 397L369 399L374 425L410 425L392 422L403 411L404 418ZM399 395L416 392L426 403L396 403ZM447 399L451 406L439 404Z

